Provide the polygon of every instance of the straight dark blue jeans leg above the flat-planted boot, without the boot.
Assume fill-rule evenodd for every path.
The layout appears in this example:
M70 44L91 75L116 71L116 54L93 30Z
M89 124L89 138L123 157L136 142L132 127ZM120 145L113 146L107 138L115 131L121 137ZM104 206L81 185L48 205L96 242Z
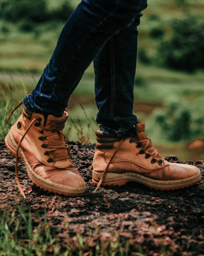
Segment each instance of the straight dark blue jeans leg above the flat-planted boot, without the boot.
M141 16L141 15L140 15ZM140 16L104 45L94 58L96 121L104 134L127 138L135 134L133 89Z

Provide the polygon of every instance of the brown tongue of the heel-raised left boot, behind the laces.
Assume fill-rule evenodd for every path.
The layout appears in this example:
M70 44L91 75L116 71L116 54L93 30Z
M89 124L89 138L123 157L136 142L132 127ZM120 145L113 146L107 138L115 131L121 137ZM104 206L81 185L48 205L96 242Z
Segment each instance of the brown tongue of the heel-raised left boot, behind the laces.
M47 116L47 120L45 122L45 127L50 131L44 130L44 135L47 136L47 141L49 146L64 146L65 139L62 129L64 129L65 121L68 118L68 112L64 111L64 114L61 117L56 117L53 115ZM54 132L58 131L57 134L53 134ZM52 157L55 159L65 157L68 155L66 149L58 149L51 153Z

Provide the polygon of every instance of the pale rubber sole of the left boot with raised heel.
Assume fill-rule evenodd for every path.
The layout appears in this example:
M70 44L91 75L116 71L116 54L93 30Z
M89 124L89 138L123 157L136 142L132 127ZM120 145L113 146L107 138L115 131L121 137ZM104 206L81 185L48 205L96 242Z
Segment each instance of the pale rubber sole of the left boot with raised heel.
M11 152L13 156L16 156L16 148L18 144L16 143L15 139L13 138L13 134L11 131L7 134L5 140L5 145L7 149ZM31 181L38 186L39 188L42 188L45 191L53 192L55 194L59 195L66 195L70 197L81 197L83 193L85 192L85 187L77 188L72 186L66 186L63 184L55 183L53 181L49 181L47 179L44 179L40 177L38 174L36 174L31 166L29 165L24 152L21 147L19 147L18 150L18 156L24 161L27 174Z

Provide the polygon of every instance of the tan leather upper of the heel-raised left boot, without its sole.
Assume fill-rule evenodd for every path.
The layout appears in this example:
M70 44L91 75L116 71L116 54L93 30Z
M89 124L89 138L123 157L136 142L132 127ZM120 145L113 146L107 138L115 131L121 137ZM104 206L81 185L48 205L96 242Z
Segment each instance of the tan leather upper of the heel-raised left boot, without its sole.
M44 179L69 186L85 186L84 180L72 165L62 132L68 112L64 111L61 117L48 115L45 118L44 115L33 113L24 107L22 114L11 127L16 143L20 142L35 118L37 119L20 144L31 168Z

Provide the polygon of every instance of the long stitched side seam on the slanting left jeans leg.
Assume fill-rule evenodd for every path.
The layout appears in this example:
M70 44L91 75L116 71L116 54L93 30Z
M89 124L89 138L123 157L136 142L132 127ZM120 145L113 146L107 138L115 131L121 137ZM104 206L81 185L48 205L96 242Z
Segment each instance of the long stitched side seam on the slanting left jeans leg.
M100 27L100 25L102 25L104 23L104 21L107 20L107 18L111 15L113 15L113 13L118 9L118 5L117 7L113 10L113 12L111 12L111 14L109 14L108 16L106 16L105 18L103 18L103 20L100 21L100 23L98 23L97 26L95 26L91 32L89 34L86 35L86 38L82 41L82 43L78 46L77 50L75 50L75 52L73 53L72 57L70 58L70 61L65 65L64 69L62 70L60 76L58 77L57 81L55 82L55 84L53 85L53 90L54 91L56 85L58 84L58 82L60 81L62 75L64 75L64 72L67 70L67 68L71 65L72 61L75 59L75 55L76 53L80 50L80 48L82 48L82 45L87 41L87 39L89 38L90 34L92 32L95 31L96 28ZM52 93L53 94L53 93ZM46 99L46 101L44 102L44 106L47 104L47 101L51 98L51 96L49 98Z

